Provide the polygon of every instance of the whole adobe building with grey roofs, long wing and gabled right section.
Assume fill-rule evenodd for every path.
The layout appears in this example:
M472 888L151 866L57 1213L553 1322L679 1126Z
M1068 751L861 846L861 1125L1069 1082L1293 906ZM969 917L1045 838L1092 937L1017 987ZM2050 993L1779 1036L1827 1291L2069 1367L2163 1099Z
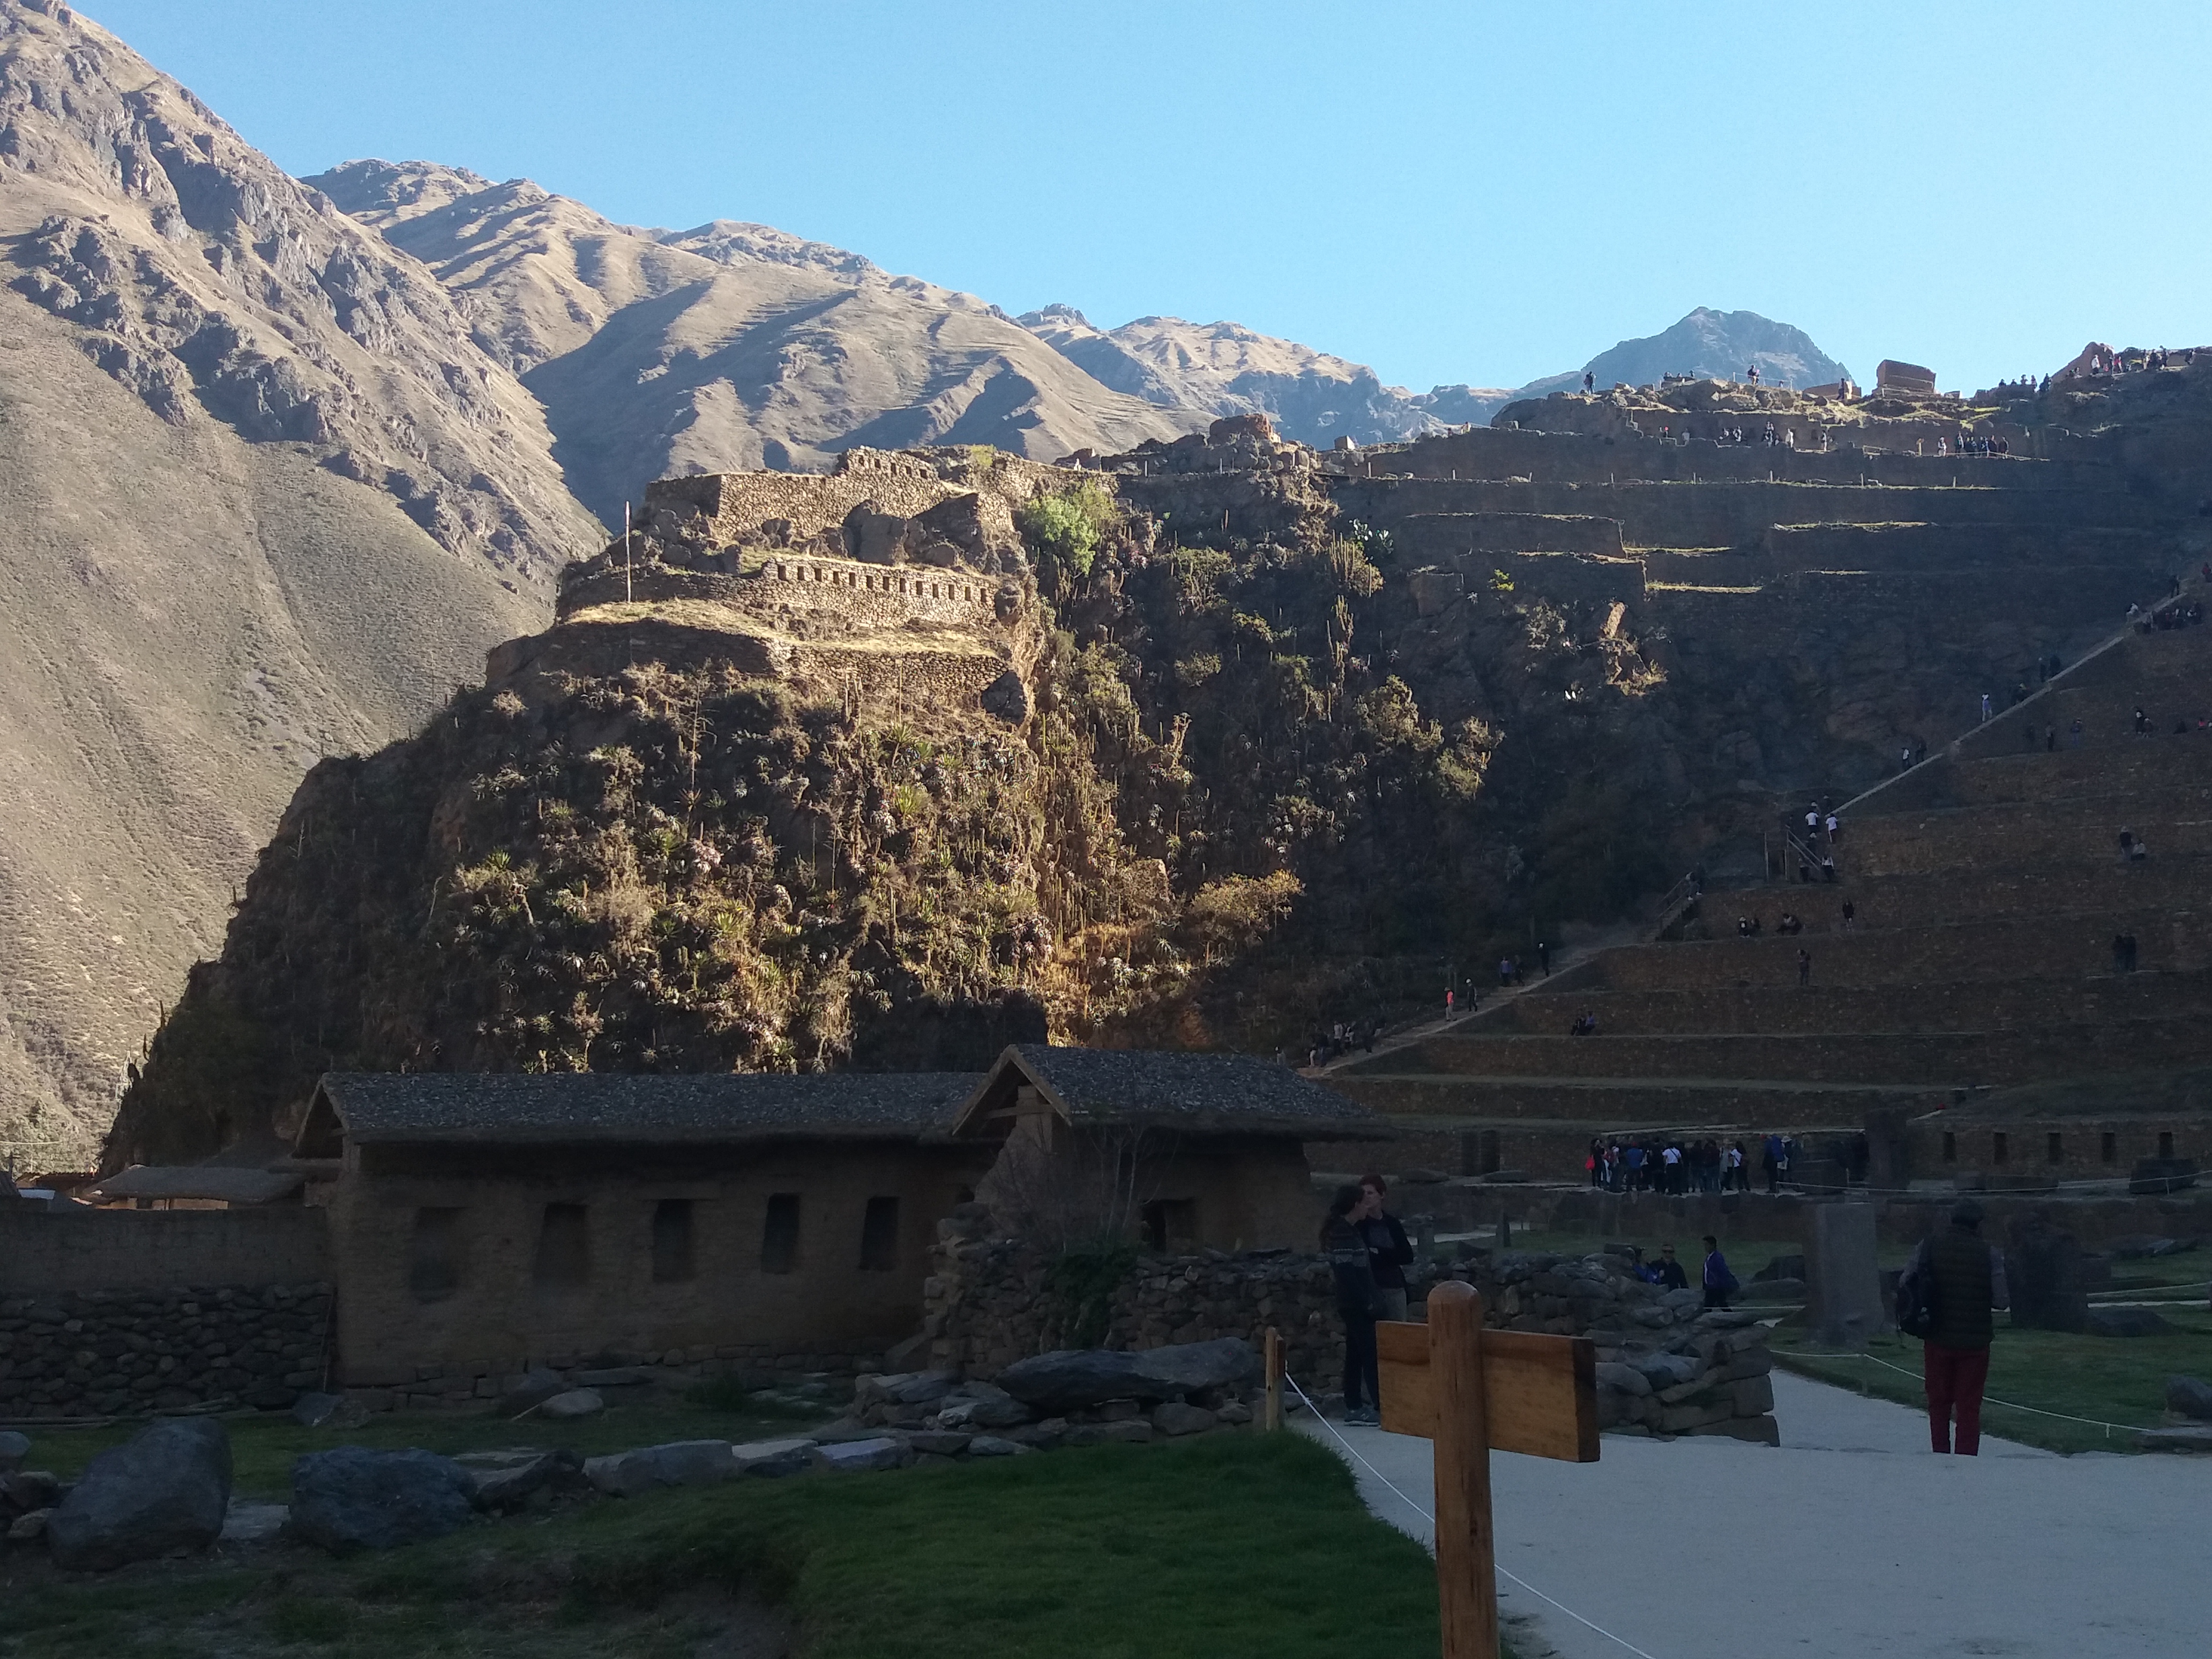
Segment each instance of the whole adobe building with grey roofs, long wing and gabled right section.
M336 1376L478 1398L591 1358L852 1371L918 1334L936 1223L1310 1245L1310 1139L1378 1119L1232 1055L1006 1048L987 1075L330 1073ZM1093 1201L1099 1177L1108 1203Z

